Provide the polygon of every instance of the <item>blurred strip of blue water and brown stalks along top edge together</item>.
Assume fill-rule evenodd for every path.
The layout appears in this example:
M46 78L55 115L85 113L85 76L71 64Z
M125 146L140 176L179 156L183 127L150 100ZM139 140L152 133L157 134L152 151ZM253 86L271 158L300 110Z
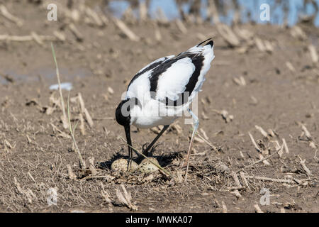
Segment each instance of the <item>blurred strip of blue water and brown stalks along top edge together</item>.
M157 18L162 11L167 19L193 16L196 20L213 21L215 6L223 23L267 23L259 17L262 4L268 4L271 11L269 23L293 26L298 21L308 21L319 26L319 0L133 0L133 1L86 1L87 4L100 2L103 10L121 18L131 9L139 17L140 4L145 4L150 18Z

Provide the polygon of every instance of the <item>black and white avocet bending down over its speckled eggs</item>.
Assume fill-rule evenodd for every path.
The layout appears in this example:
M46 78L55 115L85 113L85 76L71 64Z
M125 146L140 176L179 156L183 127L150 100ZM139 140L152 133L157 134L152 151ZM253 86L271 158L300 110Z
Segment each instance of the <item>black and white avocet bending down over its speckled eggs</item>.
M194 130L182 165L188 167L199 123L198 117L189 106L196 94L201 91L205 74L210 69L214 57L213 40L209 38L177 56L159 58L135 74L116 109L116 121L125 129L130 160L133 157L131 125L138 128L164 126L144 150L143 153L147 153L169 125L184 111L189 111L194 119Z

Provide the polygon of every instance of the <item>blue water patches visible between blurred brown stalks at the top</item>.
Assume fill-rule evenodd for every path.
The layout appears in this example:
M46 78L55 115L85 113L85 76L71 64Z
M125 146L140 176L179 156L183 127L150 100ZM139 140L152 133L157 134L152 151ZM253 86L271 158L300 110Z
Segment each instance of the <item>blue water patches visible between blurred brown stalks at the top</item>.
M143 1L143 0L140 0ZM237 0L240 5L240 19L243 23L249 21L254 21L256 23L272 23L272 24L282 24L284 21L288 23L289 26L293 26L298 22L298 18L301 16L310 16L315 13L315 8L312 4L306 4L306 8L303 9L304 0L283 0L279 4L276 4L276 0ZM319 6L319 0L315 0ZM230 24L233 21L234 10L232 7L232 1L224 0L223 1L228 7L229 10L223 13L220 13L220 21L223 23ZM269 4L270 6L270 21L261 21L260 13L262 10L259 7L262 4ZM128 9L130 4L128 1L110 1L108 7L113 11L116 17L121 18L125 9ZM201 16L203 19L206 19L206 6L207 0L201 0ZM286 7L288 13L284 13L284 8ZM164 11L165 15L169 20L174 20L175 18L180 18L179 11L177 9L177 4L174 0L151 0L149 13L152 18L155 18L155 12L158 8L161 8ZM185 13L189 11L190 5L183 4L182 9ZM138 16L138 10L133 11L136 16ZM247 16L250 14L250 16ZM285 15L286 14L286 15ZM315 17L315 26L319 26L319 13Z

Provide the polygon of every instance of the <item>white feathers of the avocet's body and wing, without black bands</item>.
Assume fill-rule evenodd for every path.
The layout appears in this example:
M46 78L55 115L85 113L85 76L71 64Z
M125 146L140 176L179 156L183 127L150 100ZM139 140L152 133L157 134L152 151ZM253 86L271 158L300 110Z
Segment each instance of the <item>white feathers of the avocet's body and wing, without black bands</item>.
M176 101L180 94L185 92L186 85L189 84L189 79L194 74L196 67L189 55L199 55L203 57L203 65L201 66L200 74L194 89L189 96L189 101L182 106L167 106L164 101L170 99ZM194 96L200 91L203 82L205 81L205 74L211 67L211 61L214 59L213 47L211 45L194 46L186 52L179 54L181 57L167 68L162 74L156 75L157 89L155 97L151 96L151 82L152 72L164 65L165 63L174 60L174 55L167 57L161 57L158 60L150 63L146 67L142 68L138 73L147 69L151 65L161 62L156 67L151 68L145 72L142 72L133 82L128 86L128 91L125 99L137 98L140 101L140 106L135 105L130 110L131 123L138 128L152 128L159 125L169 125L175 121L178 116L181 116L181 112L186 111L191 104ZM177 56L178 57L178 56Z

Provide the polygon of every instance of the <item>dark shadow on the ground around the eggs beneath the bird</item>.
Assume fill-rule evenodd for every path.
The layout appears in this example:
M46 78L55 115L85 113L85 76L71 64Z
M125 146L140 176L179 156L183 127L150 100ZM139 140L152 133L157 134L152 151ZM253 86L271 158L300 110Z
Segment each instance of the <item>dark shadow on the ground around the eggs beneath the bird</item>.
M154 148L152 148L152 151L150 152L151 155L148 157L155 157L161 167L167 167L168 165L172 164L173 160L181 159L182 157L183 151L176 151L176 152L173 151L170 153L162 153L162 155L152 155L153 153L156 152L156 148L157 148L157 145ZM112 155L110 160L107 160L105 162L99 162L98 167L104 170L105 169L111 170L111 165L115 160L118 160L121 158L128 159L128 155L123 155L123 151L124 149L122 148L120 151L116 152L116 154ZM138 157L133 157L133 161L135 161L138 164L140 164L140 162L142 162L143 159L144 157L142 157L142 155Z

